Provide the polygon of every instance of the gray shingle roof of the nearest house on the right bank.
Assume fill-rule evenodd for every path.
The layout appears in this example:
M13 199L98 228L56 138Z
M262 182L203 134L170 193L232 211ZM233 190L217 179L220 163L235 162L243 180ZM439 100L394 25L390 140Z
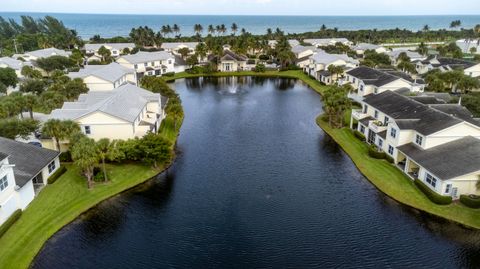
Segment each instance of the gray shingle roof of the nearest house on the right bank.
M427 150L414 143L400 146L398 150L442 180L480 171L480 139L471 136Z

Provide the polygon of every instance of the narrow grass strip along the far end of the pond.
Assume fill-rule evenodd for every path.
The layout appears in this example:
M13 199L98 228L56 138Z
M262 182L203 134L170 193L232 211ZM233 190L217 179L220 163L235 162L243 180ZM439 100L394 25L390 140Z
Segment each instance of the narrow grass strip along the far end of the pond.
M245 76L256 76L256 77L278 77L278 78L295 78L303 81L305 84L310 86L319 94L322 94L323 89L325 88L317 80L309 77L307 74L303 73L302 70L288 70L288 71L265 71L265 72L253 72L253 71L239 71L239 72L216 72L211 74L189 74L187 72L177 73L171 77L165 77L167 82L173 82L176 79L181 78L198 78L198 77L245 77Z

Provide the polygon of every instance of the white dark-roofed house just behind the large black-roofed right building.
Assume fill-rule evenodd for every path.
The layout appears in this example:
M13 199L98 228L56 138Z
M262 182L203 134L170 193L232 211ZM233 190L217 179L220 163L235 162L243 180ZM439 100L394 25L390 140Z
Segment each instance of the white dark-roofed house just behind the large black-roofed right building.
M357 102L369 94L379 94L384 91L395 91L407 88L411 92L422 92L425 82L413 79L407 74L393 70L377 70L360 66L345 74L343 83L350 83L354 89L349 97Z

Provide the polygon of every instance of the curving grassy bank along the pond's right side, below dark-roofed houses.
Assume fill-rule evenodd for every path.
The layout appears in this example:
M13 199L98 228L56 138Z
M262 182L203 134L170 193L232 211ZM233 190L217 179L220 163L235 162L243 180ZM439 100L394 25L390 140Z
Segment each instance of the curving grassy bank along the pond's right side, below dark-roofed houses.
M343 148L360 172L386 195L432 215L480 229L479 209L471 209L460 203L447 206L434 204L399 169L385 160L369 157L367 144L355 138L348 128L332 129L320 117L317 118L317 124Z

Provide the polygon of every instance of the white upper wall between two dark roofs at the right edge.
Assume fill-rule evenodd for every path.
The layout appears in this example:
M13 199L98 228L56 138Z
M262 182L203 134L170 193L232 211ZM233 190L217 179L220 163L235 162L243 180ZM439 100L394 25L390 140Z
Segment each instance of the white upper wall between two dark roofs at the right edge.
M480 138L480 128L464 122L457 124L427 136L424 141L424 149L452 142L465 136Z

